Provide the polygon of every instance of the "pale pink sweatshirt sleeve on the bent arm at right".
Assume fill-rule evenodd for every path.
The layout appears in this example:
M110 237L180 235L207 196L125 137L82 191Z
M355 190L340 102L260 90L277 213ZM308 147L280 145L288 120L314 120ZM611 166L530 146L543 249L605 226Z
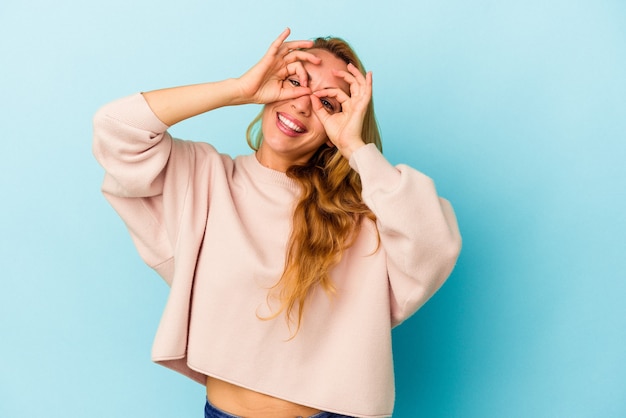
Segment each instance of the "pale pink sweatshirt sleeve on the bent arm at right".
M377 218L396 326L452 272L461 250L456 217L429 177L406 165L392 166L374 144L354 152L350 165L361 177L363 201Z

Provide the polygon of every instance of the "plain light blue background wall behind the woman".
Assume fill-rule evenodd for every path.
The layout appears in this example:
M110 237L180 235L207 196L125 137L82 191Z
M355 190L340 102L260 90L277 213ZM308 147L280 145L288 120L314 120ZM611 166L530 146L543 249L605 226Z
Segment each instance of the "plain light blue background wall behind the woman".
M0 416L202 415L203 388L150 362L167 287L99 193L91 117L238 76L286 26L353 44L385 154L433 177L463 232L449 281L394 331L394 416L626 416L617 0L4 0ZM247 153L257 111L173 132Z

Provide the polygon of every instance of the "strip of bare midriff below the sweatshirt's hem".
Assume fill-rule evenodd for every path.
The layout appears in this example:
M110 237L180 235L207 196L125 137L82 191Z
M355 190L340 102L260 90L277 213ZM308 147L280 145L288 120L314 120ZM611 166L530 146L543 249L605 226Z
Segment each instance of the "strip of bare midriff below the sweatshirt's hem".
M215 407L245 418L309 417L321 412L210 376L206 380L206 392L207 399Z

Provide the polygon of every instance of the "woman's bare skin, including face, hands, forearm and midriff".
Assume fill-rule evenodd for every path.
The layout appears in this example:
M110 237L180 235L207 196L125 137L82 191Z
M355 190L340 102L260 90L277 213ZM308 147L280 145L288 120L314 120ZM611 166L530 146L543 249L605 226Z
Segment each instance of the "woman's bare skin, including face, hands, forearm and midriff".
M372 74L319 49L312 41L286 41L286 29L263 58L238 78L144 93L166 125L211 110L265 105L258 161L274 170L307 161L323 144L349 159L365 145L362 124L372 96ZM303 50L304 49L304 50ZM307 50L308 49L308 50ZM319 410L207 377L207 397L218 408L246 418L293 418Z

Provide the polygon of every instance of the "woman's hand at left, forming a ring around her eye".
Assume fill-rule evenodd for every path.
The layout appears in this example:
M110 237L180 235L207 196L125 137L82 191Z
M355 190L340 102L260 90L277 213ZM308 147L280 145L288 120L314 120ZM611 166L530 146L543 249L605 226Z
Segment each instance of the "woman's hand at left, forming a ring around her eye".
M263 58L236 79L240 89L241 104L266 104L311 94L311 89L308 87L308 75L302 62L319 64L321 59L301 50L311 48L313 41L285 42L290 33L289 28L285 29L272 42ZM284 81L293 75L298 77L300 86L289 85L289 88L285 88Z

